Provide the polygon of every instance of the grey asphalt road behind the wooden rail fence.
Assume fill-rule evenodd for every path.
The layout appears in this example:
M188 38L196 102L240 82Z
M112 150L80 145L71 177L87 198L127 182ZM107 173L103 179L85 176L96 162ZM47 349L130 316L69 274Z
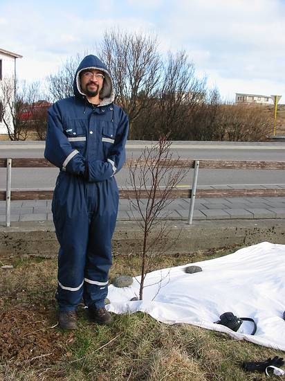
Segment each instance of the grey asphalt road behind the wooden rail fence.
M127 157L138 157L149 142L131 141L127 144ZM235 143L235 142L174 142L174 157L190 159L247 159L285 160L285 142ZM44 142L0 142L0 157L43 157ZM14 168L12 188L53 188L58 170L56 168ZM120 186L128 185L128 170L116 176ZM6 170L0 168L0 188L6 183ZM183 179L183 184L192 183L192 170ZM275 186L284 187L284 170L200 170L199 186L237 186L252 188Z

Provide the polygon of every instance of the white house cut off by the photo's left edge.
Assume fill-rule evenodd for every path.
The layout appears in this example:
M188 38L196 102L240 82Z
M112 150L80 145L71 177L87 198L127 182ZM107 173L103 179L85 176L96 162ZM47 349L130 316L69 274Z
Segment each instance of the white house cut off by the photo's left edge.
M16 59L22 56L17 53L12 53L0 48L0 81L6 78L16 78ZM7 134L6 127L1 118L1 109L3 103L1 103L1 86L0 86L0 134Z

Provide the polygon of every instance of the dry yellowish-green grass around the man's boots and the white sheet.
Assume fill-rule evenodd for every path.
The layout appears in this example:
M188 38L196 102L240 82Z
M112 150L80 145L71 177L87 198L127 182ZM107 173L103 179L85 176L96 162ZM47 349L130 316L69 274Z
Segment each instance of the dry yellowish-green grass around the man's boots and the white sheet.
M235 250L163 256L158 258L153 269L217 258ZM110 277L131 275L129 259L116 256ZM12 263L15 267L0 273L3 290L1 321L8 313L14 321L10 319L11 325L5 323L1 329L7 335L11 333L12 339L15 339L12 330L17 326L17 332L19 335L23 332L26 342L19 340L21 361L19 355L10 358L9 351L2 351L0 379L265 380L262 374L244 372L241 363L244 360L266 360L275 355L282 357L282 352L249 342L238 342L223 333L187 324L162 324L142 312L114 314L111 326L98 326L86 319L82 305L78 310L79 328L75 332L62 332L53 327L57 322L54 301L57 260L26 258L5 260L5 263ZM138 256L132 257L131 263L138 274ZM21 313L15 314L15 311ZM39 332L36 332L37 329ZM55 352L30 361L33 355L25 352L25 348L30 348L31 341L38 348L37 355L48 354L53 349ZM0 341L0 353L1 349L5 348Z

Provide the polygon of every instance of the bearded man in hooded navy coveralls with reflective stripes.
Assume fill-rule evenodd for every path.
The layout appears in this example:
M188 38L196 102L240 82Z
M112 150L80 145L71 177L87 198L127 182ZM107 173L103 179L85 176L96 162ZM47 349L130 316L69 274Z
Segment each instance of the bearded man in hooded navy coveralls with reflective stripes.
M77 327L84 299L89 317L109 324L104 308L112 264L111 238L118 212L115 175L125 162L127 115L113 104L113 80L95 55L87 55L73 82L74 96L48 110L44 156L60 170L53 194L59 241L59 327Z

